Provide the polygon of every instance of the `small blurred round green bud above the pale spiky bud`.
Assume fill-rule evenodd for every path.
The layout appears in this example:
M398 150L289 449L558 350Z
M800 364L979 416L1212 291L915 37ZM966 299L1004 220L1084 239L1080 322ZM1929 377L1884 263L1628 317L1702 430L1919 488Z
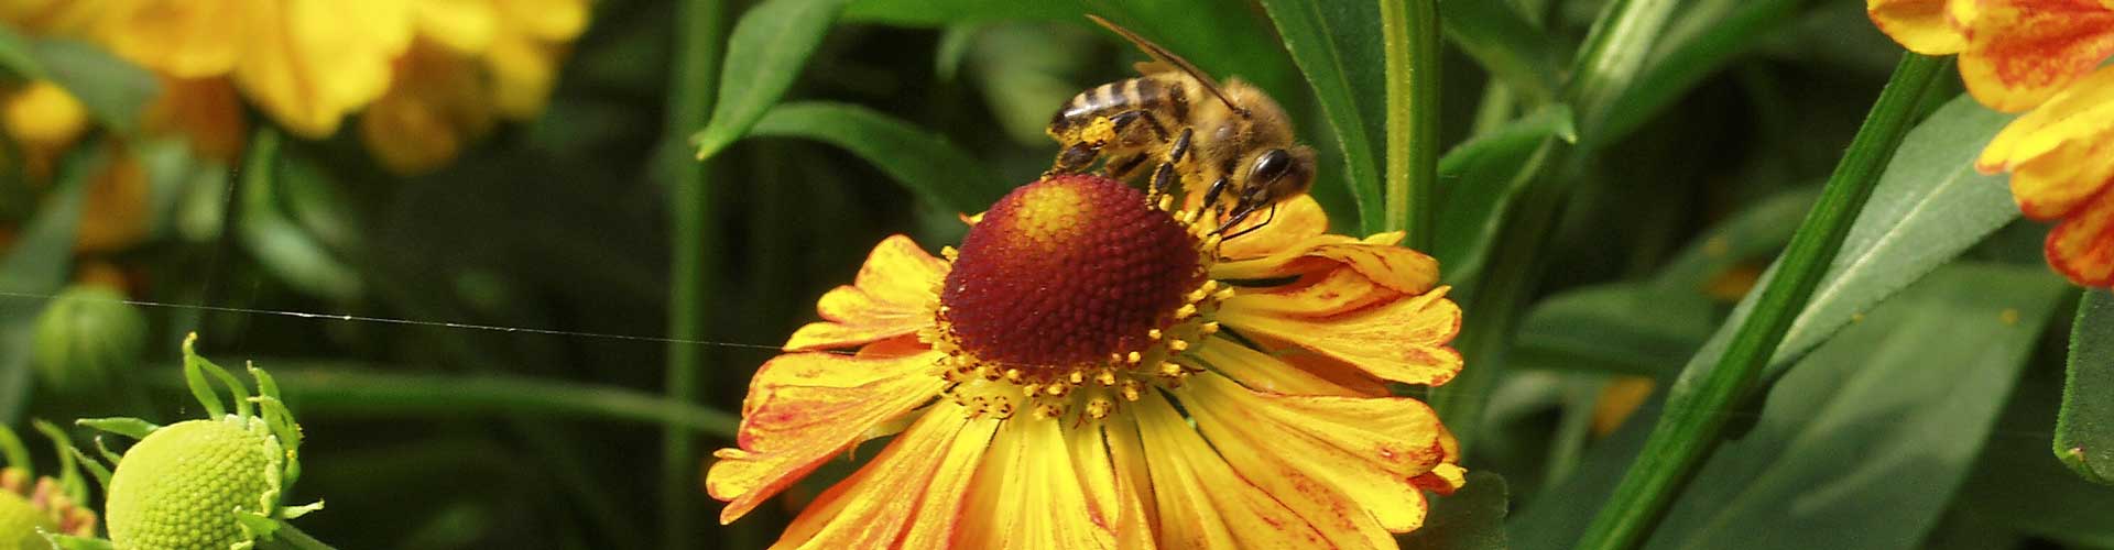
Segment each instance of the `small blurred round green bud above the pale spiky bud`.
M36 374L59 393L108 391L144 345L146 315L123 294L72 286L36 319Z

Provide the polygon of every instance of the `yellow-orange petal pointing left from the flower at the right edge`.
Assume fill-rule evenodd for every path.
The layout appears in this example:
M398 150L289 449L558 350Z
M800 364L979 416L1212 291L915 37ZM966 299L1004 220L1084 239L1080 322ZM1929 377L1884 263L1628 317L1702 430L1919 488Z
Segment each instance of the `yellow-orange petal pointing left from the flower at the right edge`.
M2004 125L2004 131L1983 146L1974 167L1985 173L2015 169L2063 144L2101 140L2110 131L2114 131L2114 70L2101 68Z

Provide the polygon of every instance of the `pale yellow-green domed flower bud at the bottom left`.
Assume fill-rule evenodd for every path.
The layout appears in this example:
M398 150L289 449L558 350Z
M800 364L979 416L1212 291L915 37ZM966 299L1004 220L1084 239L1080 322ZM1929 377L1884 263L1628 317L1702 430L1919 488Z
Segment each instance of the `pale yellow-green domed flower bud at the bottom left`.
M245 427L247 425L247 427ZM252 542L237 512L271 514L283 451L262 421L184 421L125 451L104 520L118 548L230 548Z

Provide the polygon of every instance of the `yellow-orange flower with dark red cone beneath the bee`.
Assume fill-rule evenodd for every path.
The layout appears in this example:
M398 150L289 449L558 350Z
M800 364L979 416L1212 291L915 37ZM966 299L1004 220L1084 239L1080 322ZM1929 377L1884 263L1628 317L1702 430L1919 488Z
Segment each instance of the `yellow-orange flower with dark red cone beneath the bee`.
M750 381L706 474L721 520L894 434L778 546L1391 548L1421 527L1459 448L1387 383L1461 370L1438 262L1323 235L1309 197L1230 241L1171 203L1057 176L945 260L882 241Z

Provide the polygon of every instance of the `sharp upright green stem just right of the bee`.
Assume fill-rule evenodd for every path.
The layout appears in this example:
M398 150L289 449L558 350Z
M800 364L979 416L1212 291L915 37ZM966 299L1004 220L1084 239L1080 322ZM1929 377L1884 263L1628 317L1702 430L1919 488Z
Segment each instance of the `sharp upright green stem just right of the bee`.
M1380 0L1387 51L1387 231L1431 250L1431 188L1440 178L1440 4Z

